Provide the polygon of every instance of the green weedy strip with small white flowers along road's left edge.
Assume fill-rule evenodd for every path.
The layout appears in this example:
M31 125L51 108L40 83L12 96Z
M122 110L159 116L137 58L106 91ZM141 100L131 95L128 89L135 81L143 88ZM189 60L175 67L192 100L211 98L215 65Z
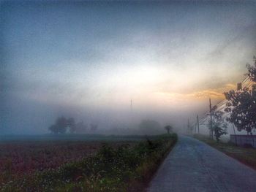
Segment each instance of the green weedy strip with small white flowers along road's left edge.
M26 174L1 191L141 191L177 140L176 134L149 137L135 146L104 145L96 155L57 169Z

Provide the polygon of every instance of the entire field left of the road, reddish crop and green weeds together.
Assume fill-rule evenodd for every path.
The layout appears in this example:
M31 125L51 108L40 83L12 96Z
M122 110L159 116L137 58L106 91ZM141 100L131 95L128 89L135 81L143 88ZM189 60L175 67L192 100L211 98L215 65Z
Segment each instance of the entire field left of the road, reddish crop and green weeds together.
M74 138L2 140L1 191L145 188L156 163L176 142L175 136Z

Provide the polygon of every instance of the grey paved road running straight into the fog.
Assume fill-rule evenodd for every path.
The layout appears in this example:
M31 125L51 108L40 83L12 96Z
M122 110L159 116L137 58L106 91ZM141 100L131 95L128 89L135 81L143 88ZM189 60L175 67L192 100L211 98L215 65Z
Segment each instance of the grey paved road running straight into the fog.
M150 192L256 191L256 171L190 137L179 137Z

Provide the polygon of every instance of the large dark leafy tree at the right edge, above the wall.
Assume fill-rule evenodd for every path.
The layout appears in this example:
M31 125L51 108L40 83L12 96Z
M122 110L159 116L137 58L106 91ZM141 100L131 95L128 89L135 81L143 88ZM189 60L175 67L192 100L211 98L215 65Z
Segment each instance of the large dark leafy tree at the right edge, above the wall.
M247 64L246 68L246 75L256 82L256 59L254 66ZM225 112L230 113L227 121L233 123L238 131L245 130L247 134L252 134L256 128L256 85L252 85L252 89L239 85L237 91L231 90L224 94L227 99Z

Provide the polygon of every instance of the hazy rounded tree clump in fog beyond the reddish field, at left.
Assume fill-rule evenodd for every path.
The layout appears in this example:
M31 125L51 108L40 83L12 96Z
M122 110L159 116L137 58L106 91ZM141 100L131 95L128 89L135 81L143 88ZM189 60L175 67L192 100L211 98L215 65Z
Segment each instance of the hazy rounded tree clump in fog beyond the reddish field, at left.
M87 129L86 124L83 121L78 123L75 122L74 118L57 118L55 123L51 125L48 129L52 134L76 134L76 133L94 133L97 131L98 125L91 123L90 128Z

